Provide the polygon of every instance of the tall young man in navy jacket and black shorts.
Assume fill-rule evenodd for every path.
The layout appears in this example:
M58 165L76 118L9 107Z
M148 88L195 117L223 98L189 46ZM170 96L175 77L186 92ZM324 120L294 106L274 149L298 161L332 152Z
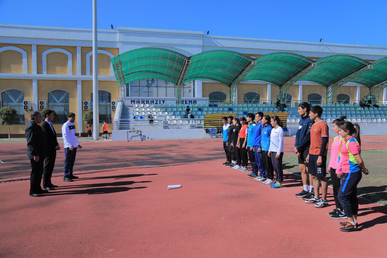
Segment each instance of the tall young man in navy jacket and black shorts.
M294 153L298 156L298 167L300 168L303 184L303 190L296 194L296 197L305 197L305 200L309 200L310 197L314 195L313 179L311 174L308 175L307 162L310 147L310 128L312 127L312 124L314 124L314 121L309 117L309 111L310 104L308 102L302 102L298 104L298 114L301 116L301 119L298 123L296 141L294 144Z

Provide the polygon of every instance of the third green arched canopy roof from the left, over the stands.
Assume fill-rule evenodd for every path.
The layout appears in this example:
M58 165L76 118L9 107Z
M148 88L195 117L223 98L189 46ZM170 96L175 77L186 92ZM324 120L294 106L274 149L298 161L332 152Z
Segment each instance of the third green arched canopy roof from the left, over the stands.
M282 86L313 63L307 57L287 52L262 55L255 59L255 62L255 66L243 81L262 81L277 86Z

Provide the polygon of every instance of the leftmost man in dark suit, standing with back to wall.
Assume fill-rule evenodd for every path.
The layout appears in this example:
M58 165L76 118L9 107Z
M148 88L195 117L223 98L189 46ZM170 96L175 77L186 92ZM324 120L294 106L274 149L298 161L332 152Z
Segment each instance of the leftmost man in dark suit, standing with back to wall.
M48 193L40 187L43 174L43 161L47 157L47 140L39 126L42 115L38 111L31 113L31 121L26 126L27 156L31 160L29 195L38 197Z

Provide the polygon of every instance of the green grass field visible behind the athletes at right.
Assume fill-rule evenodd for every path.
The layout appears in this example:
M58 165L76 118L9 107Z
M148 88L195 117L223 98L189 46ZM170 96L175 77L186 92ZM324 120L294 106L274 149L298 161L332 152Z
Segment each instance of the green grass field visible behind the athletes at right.
M327 166L329 164L329 153ZM370 174L364 175L358 185L358 196L387 206L387 150L366 150L361 152L365 167ZM296 155L284 155L284 170L300 175ZM328 184L330 175L327 175Z

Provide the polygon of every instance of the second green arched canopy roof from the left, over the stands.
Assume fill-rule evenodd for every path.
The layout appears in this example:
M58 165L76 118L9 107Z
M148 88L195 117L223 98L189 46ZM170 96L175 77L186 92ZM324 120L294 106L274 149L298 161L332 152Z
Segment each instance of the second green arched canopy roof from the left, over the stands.
M234 51L205 51L190 58L184 82L207 80L230 85L252 61L253 58Z

